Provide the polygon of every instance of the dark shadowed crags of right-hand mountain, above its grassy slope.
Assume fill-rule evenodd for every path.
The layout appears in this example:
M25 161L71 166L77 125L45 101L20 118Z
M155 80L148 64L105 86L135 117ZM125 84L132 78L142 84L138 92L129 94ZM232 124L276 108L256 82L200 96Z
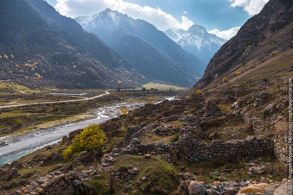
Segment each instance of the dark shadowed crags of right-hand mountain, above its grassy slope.
M207 65L203 78L195 84L194 88L203 89L215 79L226 77L226 72L235 66L245 65L255 58L264 58L272 51L285 47L290 42L292 34L290 30L287 32L287 38L274 40L275 42L267 50L258 48L259 43L272 39L276 33L293 21L292 10L292 1L269 1L259 14L250 18L214 55ZM247 48L249 45L251 46ZM249 55L243 54L245 50L253 52Z

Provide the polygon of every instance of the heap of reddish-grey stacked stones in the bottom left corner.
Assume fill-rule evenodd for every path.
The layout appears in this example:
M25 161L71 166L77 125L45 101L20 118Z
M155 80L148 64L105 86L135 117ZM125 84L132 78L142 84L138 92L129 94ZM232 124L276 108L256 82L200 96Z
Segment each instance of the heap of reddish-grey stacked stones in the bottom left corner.
M60 171L40 177L36 182L27 182L26 186L17 190L15 195L74 195L83 191L81 177L74 171L62 174Z

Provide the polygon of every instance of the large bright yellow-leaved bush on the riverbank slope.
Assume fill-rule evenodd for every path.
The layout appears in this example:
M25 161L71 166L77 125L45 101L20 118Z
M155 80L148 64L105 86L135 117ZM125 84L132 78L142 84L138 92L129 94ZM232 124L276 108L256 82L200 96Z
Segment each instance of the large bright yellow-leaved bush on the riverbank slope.
M71 157L78 152L84 150L93 152L96 148L101 147L107 139L97 123L90 123L79 135L76 135L72 140L72 145L67 147L62 155L65 160L70 161Z

